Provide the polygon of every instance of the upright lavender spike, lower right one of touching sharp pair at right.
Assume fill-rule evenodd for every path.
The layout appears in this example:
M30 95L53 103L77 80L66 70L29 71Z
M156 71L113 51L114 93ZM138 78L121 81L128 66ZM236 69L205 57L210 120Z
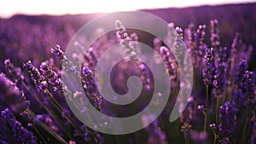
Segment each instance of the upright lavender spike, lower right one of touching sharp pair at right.
M226 83L226 63L217 63L216 72L213 80L213 94L223 95Z

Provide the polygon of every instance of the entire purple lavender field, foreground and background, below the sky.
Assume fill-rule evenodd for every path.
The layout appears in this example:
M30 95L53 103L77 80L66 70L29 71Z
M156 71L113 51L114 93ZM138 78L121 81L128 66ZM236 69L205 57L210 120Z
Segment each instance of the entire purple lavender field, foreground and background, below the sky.
M142 10L169 23L167 31L175 30L177 36L167 35L166 41L171 41L178 55L183 55L181 45L184 43L192 61L193 67L182 65L193 71L194 76L189 103L180 105L185 109L172 123L169 117L178 101L178 91L188 84L181 81L181 66L160 38L140 30L125 29L125 23L116 20L113 21L114 32L99 37L86 53L75 52L70 58L65 51L73 35L81 26L103 14L16 14L0 19L0 143L256 143L254 9L256 3ZM96 32L104 33L104 29L97 27ZM141 112L151 100L155 79L148 66L136 58L138 42L154 49L166 66L171 93L164 111L152 124L126 135L90 129L73 114L67 97L81 101L81 106L77 107L83 114L88 111L81 96L84 92L96 110L118 118ZM86 40L74 45L84 49L84 43ZM143 84L137 100L124 106L104 100L94 77L97 60L116 43L123 46L116 54L126 52L130 57L113 67L111 86L116 93L125 94L131 76L137 76ZM154 60L154 56L150 59ZM76 66L78 60L83 61L81 72ZM66 67L61 66L63 63ZM79 78L83 91L73 91L69 85L62 84L61 68ZM148 119L142 118L141 123L146 124ZM106 122L95 127L108 125Z

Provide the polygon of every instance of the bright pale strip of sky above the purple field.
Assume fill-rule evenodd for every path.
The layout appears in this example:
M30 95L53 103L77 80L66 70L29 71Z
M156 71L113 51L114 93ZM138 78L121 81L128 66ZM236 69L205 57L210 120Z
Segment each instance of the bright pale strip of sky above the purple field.
M0 17L13 14L90 14L137 9L183 8L256 0L0 0Z

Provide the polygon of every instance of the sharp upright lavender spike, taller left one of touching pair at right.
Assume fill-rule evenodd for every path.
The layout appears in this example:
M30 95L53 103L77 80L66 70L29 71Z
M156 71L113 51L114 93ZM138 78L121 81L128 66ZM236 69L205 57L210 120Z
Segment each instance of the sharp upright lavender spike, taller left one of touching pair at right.
M206 49L206 63L205 67L202 70L202 77L204 84L209 85L212 84L213 78L214 78L214 60L213 60L213 48L207 48Z

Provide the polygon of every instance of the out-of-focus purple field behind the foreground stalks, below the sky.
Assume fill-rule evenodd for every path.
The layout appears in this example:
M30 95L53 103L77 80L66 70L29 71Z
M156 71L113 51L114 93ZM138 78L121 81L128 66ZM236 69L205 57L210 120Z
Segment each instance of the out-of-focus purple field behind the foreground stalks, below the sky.
M219 22L220 41L229 46L236 32L241 33L244 43L256 47L256 3L229 4L221 6L201 6L183 9L144 9L142 11L160 16L167 22L185 28L193 22L195 26L207 25L210 31L210 20ZM16 14L9 19L0 19L0 62L9 57L19 66L26 60L45 60L49 58L49 49L55 43L66 48L73 34L81 26L102 14L68 14L54 15L22 15ZM153 47L154 37L143 37L137 33L141 41ZM210 33L207 32L205 43L210 43ZM144 39L143 39L144 38ZM253 51L255 54L255 50ZM253 56L253 60L256 58ZM255 67L256 63L252 63ZM3 68L3 65L1 65Z

